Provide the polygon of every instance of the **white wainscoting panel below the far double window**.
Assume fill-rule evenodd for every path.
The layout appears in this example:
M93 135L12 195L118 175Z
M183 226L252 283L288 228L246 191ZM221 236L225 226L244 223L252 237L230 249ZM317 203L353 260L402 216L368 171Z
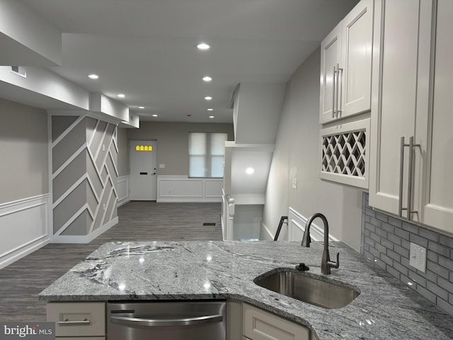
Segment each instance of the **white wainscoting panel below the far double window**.
M157 202L222 202L223 179L157 176Z

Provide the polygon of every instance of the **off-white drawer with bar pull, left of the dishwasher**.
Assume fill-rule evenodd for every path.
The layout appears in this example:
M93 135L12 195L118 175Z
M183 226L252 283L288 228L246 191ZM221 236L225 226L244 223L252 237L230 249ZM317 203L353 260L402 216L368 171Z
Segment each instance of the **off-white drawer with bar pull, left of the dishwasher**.
M105 303L49 302L47 321L56 323L55 336L105 336Z

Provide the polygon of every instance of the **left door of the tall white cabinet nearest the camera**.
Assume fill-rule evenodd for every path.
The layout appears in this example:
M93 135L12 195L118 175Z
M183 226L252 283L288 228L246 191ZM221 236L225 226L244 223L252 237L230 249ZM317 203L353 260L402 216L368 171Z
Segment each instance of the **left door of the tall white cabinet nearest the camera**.
M407 192L407 165L399 180L400 140L415 133L418 16L419 1L376 1L369 205L395 215L399 185ZM405 206L406 195L401 199Z

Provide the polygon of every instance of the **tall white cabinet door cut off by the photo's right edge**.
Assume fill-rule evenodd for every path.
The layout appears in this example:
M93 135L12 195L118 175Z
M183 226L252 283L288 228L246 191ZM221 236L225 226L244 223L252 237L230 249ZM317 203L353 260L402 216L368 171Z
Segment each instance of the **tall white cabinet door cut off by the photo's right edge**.
M413 219L452 234L453 1L424 1L422 6L415 135L420 149L415 150L414 176L419 211Z

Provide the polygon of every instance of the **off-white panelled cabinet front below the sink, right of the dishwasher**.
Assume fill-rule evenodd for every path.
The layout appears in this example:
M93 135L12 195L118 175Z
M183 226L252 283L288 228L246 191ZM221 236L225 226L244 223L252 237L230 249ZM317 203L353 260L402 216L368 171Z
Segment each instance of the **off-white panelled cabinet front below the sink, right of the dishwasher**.
M251 340L309 340L306 327L243 304L243 335Z

